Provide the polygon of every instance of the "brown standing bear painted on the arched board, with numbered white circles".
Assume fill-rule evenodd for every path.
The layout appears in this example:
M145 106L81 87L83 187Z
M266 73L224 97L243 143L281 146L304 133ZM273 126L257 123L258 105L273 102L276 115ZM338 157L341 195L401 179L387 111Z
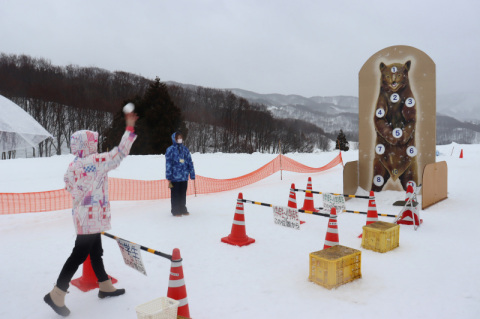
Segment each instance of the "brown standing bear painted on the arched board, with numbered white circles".
M404 190L410 181L418 183L415 148L416 103L405 64L380 63L380 94L374 123L377 140L373 161L372 190L381 191L387 181L400 179Z

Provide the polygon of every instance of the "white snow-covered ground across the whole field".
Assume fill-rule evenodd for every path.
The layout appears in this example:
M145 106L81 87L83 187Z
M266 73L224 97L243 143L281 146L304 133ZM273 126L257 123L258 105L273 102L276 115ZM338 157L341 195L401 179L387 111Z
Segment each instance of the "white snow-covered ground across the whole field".
M453 154L451 155L452 148ZM317 174L283 172L242 189L189 196L190 216L174 218L170 200L112 202L110 233L171 254L178 247L192 318L480 318L480 145L438 146L437 161L448 164L448 199L421 211L414 231L401 226L400 247L381 254L361 248L357 236L365 215L338 217L340 244L362 252L362 278L328 290L308 281L309 253L321 250L328 219L302 214L301 230L273 223L272 209L245 204L246 231L256 242L245 247L220 242L230 234L236 198L287 205L289 188L341 193L342 167ZM459 159L460 149L464 158ZM309 166L327 164L337 153L288 154ZM273 159L267 154L193 154L196 172L214 178L246 174ZM344 161L358 151L343 153ZM0 161L0 192L63 188L72 156ZM131 156L111 177L164 178L163 156ZM366 194L366 192L364 192ZM379 213L398 214L392 205L403 192L377 194ZM297 193L303 204L304 194ZM421 199L421 197L420 197ZM315 205L321 206L315 195ZM353 199L347 209L367 210ZM393 219L380 217L391 222ZM69 256L75 231L69 210L0 216L0 318L58 318L44 301ZM117 243L103 237L107 272L126 294L106 300L97 291L71 286L70 318L136 318L135 307L166 296L170 261L142 252L148 276L127 267ZM74 276L81 276L82 268Z

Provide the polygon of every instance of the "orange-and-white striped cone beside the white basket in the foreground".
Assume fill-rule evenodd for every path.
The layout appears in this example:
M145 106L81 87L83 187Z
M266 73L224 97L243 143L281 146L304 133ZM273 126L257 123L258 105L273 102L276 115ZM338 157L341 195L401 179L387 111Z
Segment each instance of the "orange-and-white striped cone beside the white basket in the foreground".
M167 297L178 300L177 315L190 318L188 309L187 288L183 279L182 257L178 248L172 252L172 267L170 268L170 280L168 281Z

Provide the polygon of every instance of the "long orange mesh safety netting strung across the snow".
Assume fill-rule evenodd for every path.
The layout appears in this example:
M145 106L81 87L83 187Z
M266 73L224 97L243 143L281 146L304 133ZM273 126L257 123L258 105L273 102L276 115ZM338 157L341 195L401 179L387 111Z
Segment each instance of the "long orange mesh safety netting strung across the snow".
M280 154L259 169L243 176L215 179L197 175L195 181L188 181L187 195L229 191L256 183L280 170L296 173L318 173L333 168L338 164L343 164L341 153L330 163L319 168L303 165ZM165 179L141 181L109 177L108 184L110 200L170 198L168 182ZM54 211L68 208L72 208L72 198L64 189L35 193L0 193L0 215Z

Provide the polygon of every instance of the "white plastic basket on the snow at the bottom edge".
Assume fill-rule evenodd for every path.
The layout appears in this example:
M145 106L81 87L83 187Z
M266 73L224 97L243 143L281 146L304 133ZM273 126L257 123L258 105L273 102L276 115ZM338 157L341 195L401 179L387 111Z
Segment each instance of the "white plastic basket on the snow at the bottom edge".
M176 319L179 302L168 297L150 300L135 307L138 319Z

